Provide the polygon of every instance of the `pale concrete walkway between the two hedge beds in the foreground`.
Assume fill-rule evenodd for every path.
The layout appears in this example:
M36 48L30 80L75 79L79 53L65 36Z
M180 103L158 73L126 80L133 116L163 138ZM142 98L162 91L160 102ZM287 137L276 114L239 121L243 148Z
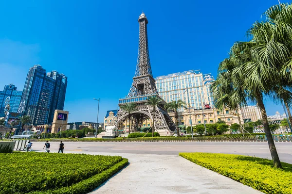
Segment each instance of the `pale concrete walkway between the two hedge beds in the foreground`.
M261 194L180 156L119 155L130 164L90 194Z

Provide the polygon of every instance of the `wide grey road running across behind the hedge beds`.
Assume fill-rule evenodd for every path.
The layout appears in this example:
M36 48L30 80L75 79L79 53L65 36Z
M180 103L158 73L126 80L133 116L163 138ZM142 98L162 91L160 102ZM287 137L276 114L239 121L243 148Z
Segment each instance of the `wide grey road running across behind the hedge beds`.
M42 150L44 142L34 142L35 151ZM51 142L51 150L59 143ZM151 155L178 155L180 152L210 152L256 156L271 159L267 142L65 142L64 151L87 153L128 153ZM292 143L275 143L282 162L292 163Z

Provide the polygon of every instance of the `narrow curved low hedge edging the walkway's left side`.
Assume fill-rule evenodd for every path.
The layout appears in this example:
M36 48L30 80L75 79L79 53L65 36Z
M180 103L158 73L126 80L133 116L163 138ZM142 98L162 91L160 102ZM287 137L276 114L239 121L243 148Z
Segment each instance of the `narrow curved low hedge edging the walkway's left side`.
M55 190L36 191L29 194L87 194L103 184L127 165L128 159L123 158L121 162L113 165L109 169L71 186L61 187Z

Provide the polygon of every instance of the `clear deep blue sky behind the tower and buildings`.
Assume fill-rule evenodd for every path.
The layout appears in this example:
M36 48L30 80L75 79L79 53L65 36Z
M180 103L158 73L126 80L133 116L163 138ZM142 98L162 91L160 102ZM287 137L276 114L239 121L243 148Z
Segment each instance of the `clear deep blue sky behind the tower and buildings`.
M286 2L286 1L281 1ZM278 0L29 0L0 2L0 90L23 89L29 67L68 77L69 121L99 121L128 94L135 73L139 24L148 18L153 76L190 69L217 75L235 41ZM266 101L267 112L283 113Z

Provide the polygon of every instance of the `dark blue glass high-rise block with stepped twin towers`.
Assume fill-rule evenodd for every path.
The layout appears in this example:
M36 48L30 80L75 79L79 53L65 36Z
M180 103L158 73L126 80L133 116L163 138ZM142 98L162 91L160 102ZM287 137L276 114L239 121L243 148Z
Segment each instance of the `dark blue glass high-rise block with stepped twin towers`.
M34 65L28 71L18 113L31 117L31 125L52 123L55 110L63 110L67 77Z

